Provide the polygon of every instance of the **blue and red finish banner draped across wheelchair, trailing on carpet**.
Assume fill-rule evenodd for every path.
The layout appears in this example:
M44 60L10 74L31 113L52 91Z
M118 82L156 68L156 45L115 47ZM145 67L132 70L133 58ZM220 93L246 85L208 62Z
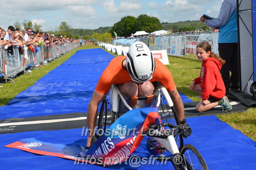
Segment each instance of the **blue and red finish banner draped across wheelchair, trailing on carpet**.
M79 139L70 144L53 144L28 138L6 147L75 161L113 165L126 160L139 146L144 137L142 132L155 123L160 123L157 108L134 109L109 126L89 150L84 147L86 139Z

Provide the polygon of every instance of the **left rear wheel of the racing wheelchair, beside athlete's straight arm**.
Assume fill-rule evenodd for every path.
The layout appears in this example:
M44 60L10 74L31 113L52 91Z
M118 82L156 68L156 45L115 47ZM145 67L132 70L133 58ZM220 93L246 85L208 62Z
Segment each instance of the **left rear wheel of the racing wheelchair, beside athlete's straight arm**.
M98 131L102 129L103 132L115 122L116 114L112 111L112 104L110 102L109 96L102 101L98 119ZM101 131L102 131L101 130ZM99 134L96 135L99 138Z

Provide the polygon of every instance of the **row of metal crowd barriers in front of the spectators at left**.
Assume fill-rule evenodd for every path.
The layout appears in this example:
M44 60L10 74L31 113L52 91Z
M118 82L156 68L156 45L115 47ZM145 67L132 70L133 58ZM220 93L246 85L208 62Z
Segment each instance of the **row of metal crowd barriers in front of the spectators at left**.
M57 46L59 47L57 51ZM73 50L80 46L80 43L69 43L64 45L50 46L38 46L38 50L32 52L27 49L27 56L20 54L20 47L13 47L13 55L11 55L6 49L0 49L0 77L9 79L15 83L11 78L16 74L19 74L30 67L39 66L40 63L48 62L59 54L65 54L67 51ZM25 51L25 50L24 50Z

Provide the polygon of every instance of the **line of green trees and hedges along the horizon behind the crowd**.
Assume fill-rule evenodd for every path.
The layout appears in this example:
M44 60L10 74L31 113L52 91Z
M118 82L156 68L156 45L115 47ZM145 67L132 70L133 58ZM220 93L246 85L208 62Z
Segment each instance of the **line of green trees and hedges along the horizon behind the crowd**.
M56 27L53 30L43 31L41 25L36 23L32 24L31 20L24 19L22 23L16 21L13 26L15 28L31 28L35 32L47 32L50 34L66 35L71 38L82 38L82 39L91 39L91 38L100 38L101 41L105 41L111 37L115 37L114 32L118 36L129 37L132 33L136 31L145 31L148 33L157 31L157 30L169 30L172 32L181 32L181 31L192 31L196 29L203 29L208 31L209 28L199 20L177 23L160 23L160 20L157 17L151 17L147 14L141 14L138 17L134 16L124 16L121 20L114 24L112 27L100 27L98 29L73 29L71 25L66 22L61 22L59 27Z

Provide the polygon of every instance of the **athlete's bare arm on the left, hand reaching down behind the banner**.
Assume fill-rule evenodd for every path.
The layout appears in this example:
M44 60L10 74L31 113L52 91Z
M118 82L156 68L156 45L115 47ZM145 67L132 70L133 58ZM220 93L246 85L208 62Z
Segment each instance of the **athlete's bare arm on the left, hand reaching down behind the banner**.
M105 95L99 94L94 91L92 99L90 99L88 110L87 110L87 125L88 125L88 132L91 132L90 129L92 129L93 133L89 133L89 136L87 138L87 147L90 147L90 142L94 136L94 130L96 126L96 120L98 115L98 106L101 101L103 101L106 98Z

